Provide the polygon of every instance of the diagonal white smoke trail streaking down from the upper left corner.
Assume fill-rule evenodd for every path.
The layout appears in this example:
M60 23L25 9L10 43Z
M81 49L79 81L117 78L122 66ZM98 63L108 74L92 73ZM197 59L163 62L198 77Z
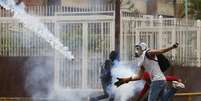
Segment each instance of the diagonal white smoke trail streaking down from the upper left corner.
M23 23L25 28L35 32L35 35L47 41L52 48L57 50L66 58L74 59L74 56L68 50L68 47L63 46L60 40L56 38L37 17L27 14L24 9L25 5L23 2L16 5L14 0L0 0L0 5L5 9L14 12L13 18L18 19L19 22Z

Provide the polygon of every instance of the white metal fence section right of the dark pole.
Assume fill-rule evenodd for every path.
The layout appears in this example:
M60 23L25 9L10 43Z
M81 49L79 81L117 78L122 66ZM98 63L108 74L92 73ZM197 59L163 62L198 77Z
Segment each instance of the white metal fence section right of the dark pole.
M201 23L175 18L122 18L121 53L124 60L133 60L134 45L146 42L150 48L169 47L179 42L180 47L167 53L172 62L200 67Z

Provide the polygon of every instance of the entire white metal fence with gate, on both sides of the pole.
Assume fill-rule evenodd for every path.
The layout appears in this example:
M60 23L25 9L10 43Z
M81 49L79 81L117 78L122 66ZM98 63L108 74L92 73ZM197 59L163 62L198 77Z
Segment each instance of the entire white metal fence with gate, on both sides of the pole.
M54 56L55 83L66 88L100 88L100 66L114 49L114 6L100 5L30 7L64 46L75 55L67 61L49 43L23 27L12 13L1 11L0 56ZM8 15L6 15L8 14ZM175 18L134 16L121 13L121 60L134 60L134 45L146 42L150 48L162 48L179 42L180 47L167 55L174 62L200 66L200 21Z

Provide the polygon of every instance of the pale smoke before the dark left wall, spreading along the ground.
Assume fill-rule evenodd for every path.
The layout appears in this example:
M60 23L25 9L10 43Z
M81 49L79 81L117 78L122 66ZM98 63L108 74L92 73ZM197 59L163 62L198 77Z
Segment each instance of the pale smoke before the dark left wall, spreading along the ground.
M54 85L54 58L31 57L26 67L25 89L33 101L86 101L93 91ZM70 82L70 81L69 81ZM43 100L42 100L43 101Z

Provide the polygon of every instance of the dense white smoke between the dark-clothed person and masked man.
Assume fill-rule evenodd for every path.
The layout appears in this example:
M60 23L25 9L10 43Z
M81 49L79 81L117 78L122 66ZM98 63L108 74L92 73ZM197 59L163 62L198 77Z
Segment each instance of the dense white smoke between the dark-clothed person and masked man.
M134 75L137 72L137 68L137 65L116 64L112 69L113 83L117 81L117 77L130 77ZM111 93L115 95L116 100L127 101L131 97L136 97L143 87L144 81L134 81L123 84L118 88L113 85Z

